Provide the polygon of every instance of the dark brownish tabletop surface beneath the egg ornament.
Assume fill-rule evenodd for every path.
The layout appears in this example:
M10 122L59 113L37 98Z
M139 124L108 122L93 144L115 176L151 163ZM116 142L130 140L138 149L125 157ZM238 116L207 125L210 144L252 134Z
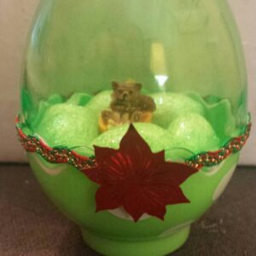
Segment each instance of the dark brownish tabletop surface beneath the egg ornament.
M172 256L256 255L256 167L238 167L218 202ZM46 198L27 165L0 165L1 256L96 256ZM139 255L134 255L139 256Z

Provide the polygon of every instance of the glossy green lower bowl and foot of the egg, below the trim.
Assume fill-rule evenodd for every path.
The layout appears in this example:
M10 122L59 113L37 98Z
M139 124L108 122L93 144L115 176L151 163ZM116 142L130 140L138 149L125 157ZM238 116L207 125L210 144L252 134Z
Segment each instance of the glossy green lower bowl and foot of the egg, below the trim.
M222 194L232 177L239 154L219 166L202 169L182 185L191 203L167 206L165 220L143 215L134 223L123 209L96 213L96 183L75 167L49 164L38 154L28 154L32 171L45 193L67 218L79 225L84 241L104 255L165 255L181 247L190 225Z

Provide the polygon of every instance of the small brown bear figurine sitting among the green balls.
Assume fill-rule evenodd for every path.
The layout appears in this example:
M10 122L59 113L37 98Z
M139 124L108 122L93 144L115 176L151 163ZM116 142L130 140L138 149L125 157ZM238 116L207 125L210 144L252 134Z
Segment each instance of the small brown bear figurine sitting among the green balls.
M112 101L100 117L102 131L108 130L109 126L151 121L155 103L150 96L141 94L142 87L133 81L112 83Z

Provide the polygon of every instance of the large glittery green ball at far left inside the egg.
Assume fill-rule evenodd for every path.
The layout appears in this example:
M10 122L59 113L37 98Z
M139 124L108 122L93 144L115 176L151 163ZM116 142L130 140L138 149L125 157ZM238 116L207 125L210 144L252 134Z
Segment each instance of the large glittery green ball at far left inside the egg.
M98 135L90 109L65 103L49 107L34 130L51 147L87 146Z

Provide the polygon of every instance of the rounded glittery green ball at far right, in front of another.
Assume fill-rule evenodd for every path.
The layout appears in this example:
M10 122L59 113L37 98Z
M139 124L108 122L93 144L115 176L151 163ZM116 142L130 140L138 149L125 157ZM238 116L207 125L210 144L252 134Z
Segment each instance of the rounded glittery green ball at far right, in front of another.
M194 153L219 147L219 139L212 126L198 113L187 113L174 119L167 131L172 137L172 147L186 148Z

